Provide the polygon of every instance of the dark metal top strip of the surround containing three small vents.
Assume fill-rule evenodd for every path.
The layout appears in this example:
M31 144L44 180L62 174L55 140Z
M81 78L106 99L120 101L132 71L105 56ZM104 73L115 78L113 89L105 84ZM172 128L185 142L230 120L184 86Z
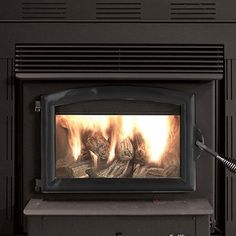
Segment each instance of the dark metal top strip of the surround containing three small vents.
M75 21L93 20L96 22L102 22L102 21L109 22L111 20L116 22L125 22L129 20L136 20L138 22L144 22L148 20L154 20L154 21L178 22L179 20L182 19L185 22L190 22L190 21L215 22L217 20L226 20L226 21L235 20L235 11L236 11L234 0L225 0L224 2L220 0L207 0L207 1L202 1L202 0L188 0L188 1L134 0L133 1L132 0L128 2L125 0L118 0L118 1L80 0L79 1L80 4L78 4L77 0L59 0L59 1L21 0L17 2L14 1L14 4L12 3L12 1L13 0L10 0L8 2L4 1L0 2L0 20L15 20L15 21L26 21L26 22L32 20L37 22L48 22L48 21L58 22L58 21L71 21L71 20ZM110 9L99 9L99 11L105 13L102 14L102 16L104 16L102 18L99 17L100 14L97 14L98 13L97 5L99 3L104 3L106 4L107 8L110 8ZM133 10L129 11L126 6L127 4L125 3L130 3ZM173 12L172 11L173 3L193 4L193 6L195 4L195 6L200 9L194 9L197 10L193 11L193 13L195 14L191 14L191 12L188 12L189 15L183 14L185 12L180 12L179 15L180 19L173 19L173 14L171 14ZM27 4L30 4L32 9L25 9ZM117 8L113 7L114 4L118 4L117 6L119 6L119 8L124 8L124 10L119 9L118 11ZM210 8L213 9L210 10L206 9L206 6L204 4L214 4L214 5L209 5ZM47 5L49 5L49 7L47 7ZM42 8L42 9L37 9L37 8ZM119 15L120 11L121 15Z

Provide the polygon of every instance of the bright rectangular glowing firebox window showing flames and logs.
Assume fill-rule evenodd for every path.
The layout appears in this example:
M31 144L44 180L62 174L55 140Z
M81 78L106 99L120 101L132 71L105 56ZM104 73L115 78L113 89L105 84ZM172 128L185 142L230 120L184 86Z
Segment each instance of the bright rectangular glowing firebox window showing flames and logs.
M56 115L57 178L180 177L179 115Z

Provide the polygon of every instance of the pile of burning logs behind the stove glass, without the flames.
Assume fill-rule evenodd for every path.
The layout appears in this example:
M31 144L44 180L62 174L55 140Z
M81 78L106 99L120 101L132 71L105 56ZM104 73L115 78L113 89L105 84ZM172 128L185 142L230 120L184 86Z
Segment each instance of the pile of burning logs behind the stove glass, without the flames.
M83 148L74 161L56 161L58 178L161 178L179 176L179 154L166 152L158 165L148 161L148 152L141 134L117 142L115 155L110 156L110 140L101 132L84 135ZM175 147L172 147L175 148Z

